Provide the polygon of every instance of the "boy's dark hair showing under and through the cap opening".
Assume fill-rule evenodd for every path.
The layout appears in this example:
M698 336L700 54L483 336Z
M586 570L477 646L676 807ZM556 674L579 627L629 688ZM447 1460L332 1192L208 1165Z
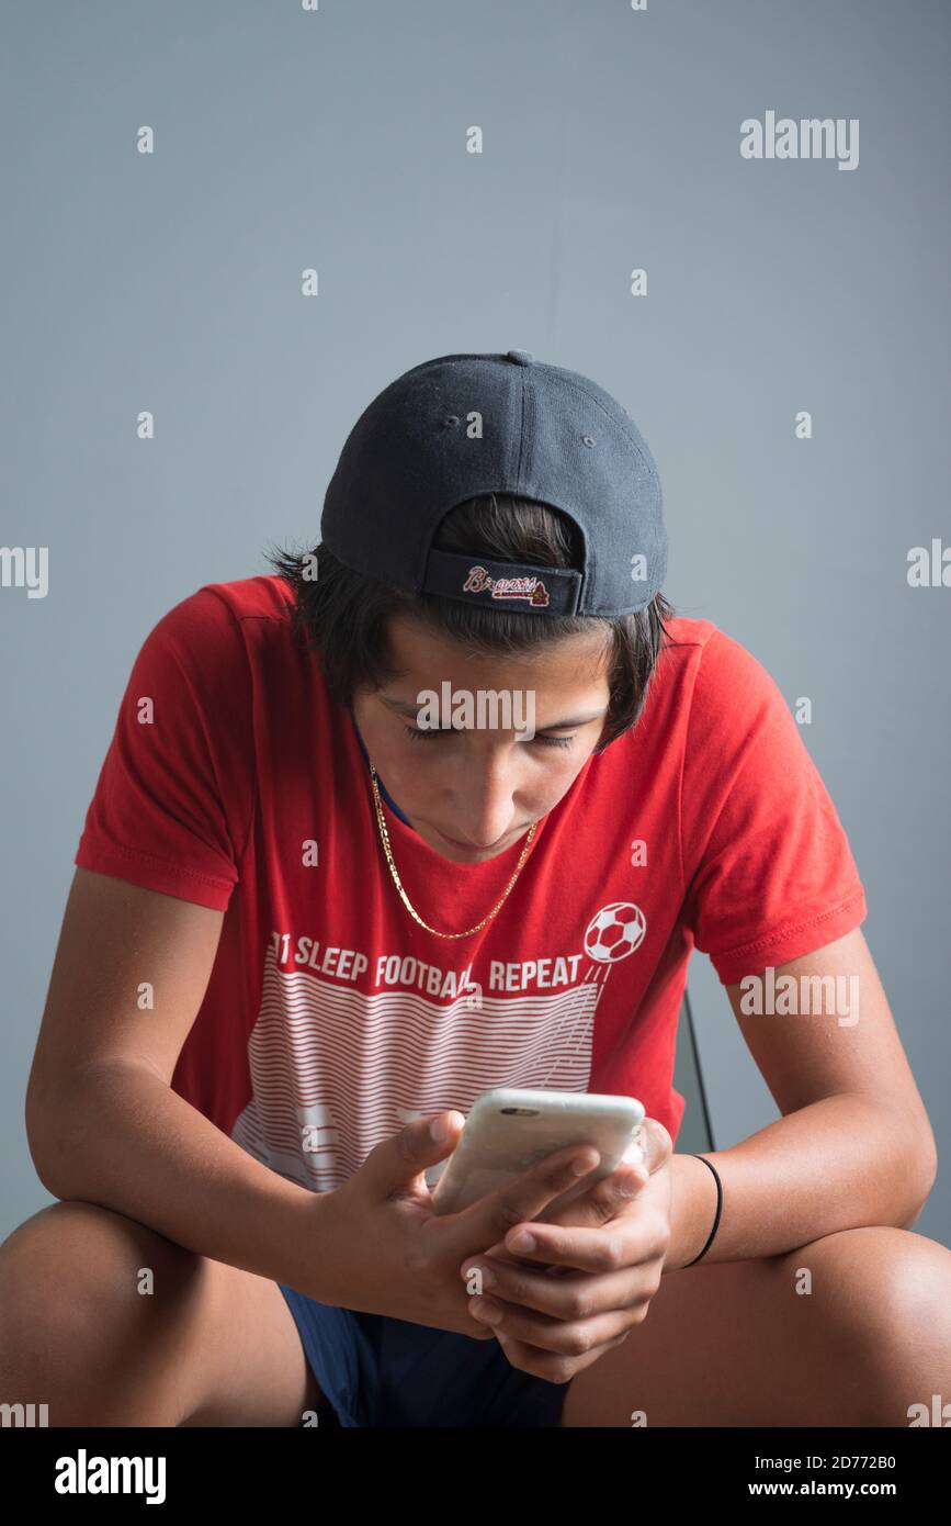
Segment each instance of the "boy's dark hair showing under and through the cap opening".
M489 493L459 504L442 520L433 545L442 551L524 562L543 568L581 565L579 531L567 514L533 499ZM604 626L611 642L610 708L596 752L628 731L640 716L664 644L674 606L663 594L636 615L536 615L463 604L433 594L407 594L343 566L323 543L308 554L277 548L267 562L294 591L293 621L317 656L337 703L351 707L357 690L376 690L396 676L387 650L392 615L411 615L479 653L521 653ZM308 565L317 560L317 577Z

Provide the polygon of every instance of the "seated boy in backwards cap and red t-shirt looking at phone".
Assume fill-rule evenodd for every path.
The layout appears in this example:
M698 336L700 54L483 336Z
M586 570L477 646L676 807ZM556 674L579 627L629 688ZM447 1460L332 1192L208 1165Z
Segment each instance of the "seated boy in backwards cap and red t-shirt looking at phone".
M782 694L663 598L625 409L524 351L416 366L346 441L315 552L271 563L133 667L27 1096L64 1201L0 1251L0 1399L908 1424L951 1372L951 1254L908 1228L931 1128ZM782 1112L703 1157L672 1152L693 948ZM550 1224L594 1151L433 1215L500 1085L639 1097L643 1163Z

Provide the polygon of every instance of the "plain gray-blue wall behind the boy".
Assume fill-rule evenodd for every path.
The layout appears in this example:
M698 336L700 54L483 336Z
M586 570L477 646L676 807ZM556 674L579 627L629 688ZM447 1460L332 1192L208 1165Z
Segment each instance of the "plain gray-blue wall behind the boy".
M49 1201L26 1077L143 636L317 540L395 375L524 348L642 427L680 612L812 699L942 1155L917 1227L948 1241L951 589L907 583L951 536L946 5L96 0L5 34L0 540L49 546L50 584L0 589L0 1236ZM858 168L744 160L767 110L858 118ZM776 1109L701 955L690 993L725 1148Z

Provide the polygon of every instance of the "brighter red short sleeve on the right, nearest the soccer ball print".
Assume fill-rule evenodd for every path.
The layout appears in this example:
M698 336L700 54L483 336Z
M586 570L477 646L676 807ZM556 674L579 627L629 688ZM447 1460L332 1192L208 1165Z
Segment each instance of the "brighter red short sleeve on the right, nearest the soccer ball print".
M800 729L767 670L715 630L681 781L684 922L724 986L844 937L864 887Z

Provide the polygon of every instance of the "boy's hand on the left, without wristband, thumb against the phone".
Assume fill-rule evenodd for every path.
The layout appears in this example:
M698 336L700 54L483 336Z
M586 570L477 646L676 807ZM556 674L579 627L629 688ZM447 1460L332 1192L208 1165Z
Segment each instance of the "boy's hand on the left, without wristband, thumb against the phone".
M445 1125L443 1140L433 1138L433 1123ZM317 1193L312 1285L302 1293L319 1303L494 1340L468 1312L460 1260L535 1218L600 1157L593 1146L572 1144L460 1213L433 1213L424 1172L451 1155L463 1125L456 1111L407 1123L341 1187ZM584 1161L581 1173L572 1169L576 1160Z

